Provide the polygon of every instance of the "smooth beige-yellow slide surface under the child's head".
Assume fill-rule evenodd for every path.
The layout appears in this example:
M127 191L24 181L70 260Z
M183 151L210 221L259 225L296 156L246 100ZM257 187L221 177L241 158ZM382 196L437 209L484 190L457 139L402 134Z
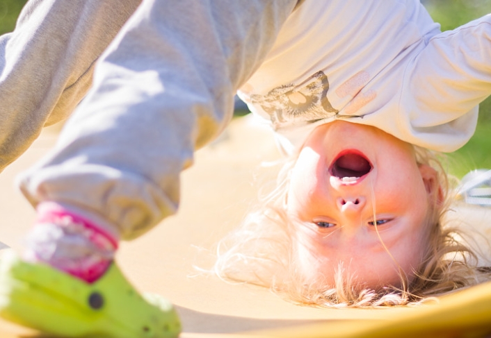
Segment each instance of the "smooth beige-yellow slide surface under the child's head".
M56 127L47 129L0 175L0 242L15 250L22 249L22 238L34 218L31 206L13 185L15 175L47 153L56 135ZM181 337L491 334L491 285L444 297L437 305L335 310L293 305L267 289L227 284L196 269L211 266L214 244L240 221L255 198L253 182L259 164L279 157L268 130L249 116L234 119L223 136L198 151L195 165L183 174L182 205L177 216L134 242L122 244L118 253L122 270L139 290L161 294L176 305L183 323ZM483 224L491 219L491 210L466 206L457 208L455 217ZM489 237L489 229L482 231L488 231ZM0 321L2 338L37 335Z

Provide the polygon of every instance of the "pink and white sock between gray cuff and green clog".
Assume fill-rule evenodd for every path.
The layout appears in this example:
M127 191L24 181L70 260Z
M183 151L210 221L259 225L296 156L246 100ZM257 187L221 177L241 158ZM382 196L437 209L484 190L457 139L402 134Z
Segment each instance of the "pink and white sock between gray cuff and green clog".
M46 262L86 282L104 274L118 248L116 239L102 228L56 203L38 208L27 245L27 260Z

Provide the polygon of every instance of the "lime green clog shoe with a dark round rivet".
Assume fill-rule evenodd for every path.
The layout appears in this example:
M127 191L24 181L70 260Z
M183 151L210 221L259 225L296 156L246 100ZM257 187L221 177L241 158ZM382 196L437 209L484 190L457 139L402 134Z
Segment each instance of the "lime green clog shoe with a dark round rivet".
M114 263L89 284L47 264L24 262L13 252L0 260L0 316L51 335L177 337L181 325L172 304L144 297Z

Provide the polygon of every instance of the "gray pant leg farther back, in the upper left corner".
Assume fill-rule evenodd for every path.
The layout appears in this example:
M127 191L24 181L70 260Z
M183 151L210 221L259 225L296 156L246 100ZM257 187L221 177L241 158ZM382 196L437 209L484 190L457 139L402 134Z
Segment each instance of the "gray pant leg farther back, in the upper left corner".
M31 0L0 37L0 171L88 91L95 60L140 0Z

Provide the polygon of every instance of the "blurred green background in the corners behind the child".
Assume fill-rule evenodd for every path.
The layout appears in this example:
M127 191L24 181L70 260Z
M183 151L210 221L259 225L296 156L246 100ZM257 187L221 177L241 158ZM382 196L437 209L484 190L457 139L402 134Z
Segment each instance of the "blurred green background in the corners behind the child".
M0 0L0 34L13 31L15 20L26 0ZM421 0L430 15L442 25L442 31L476 19L491 12L491 0ZM236 115L247 110L239 105ZM449 154L448 169L462 177L467 171L491 169L491 99L481 103L479 123L474 137L462 149Z

